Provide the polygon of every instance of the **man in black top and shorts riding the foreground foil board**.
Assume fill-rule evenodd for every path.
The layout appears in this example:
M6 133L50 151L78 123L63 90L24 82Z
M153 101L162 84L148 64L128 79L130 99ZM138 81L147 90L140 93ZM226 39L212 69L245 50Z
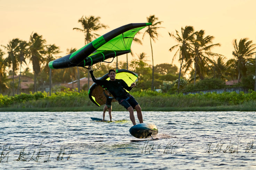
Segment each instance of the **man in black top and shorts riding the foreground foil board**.
M130 119L133 125L136 125L135 117L133 110L137 111L137 117L139 119L139 123L143 123L141 107L138 102L135 100L133 96L131 96L126 90L130 91L133 87L136 86L136 83L131 83L129 87L125 81L122 79L115 79L115 70L109 70L109 78L110 80L98 80L93 75L93 70L91 67L89 68L89 72L91 74L91 79L93 82L106 87L109 92L114 96L114 98L119 102L120 105L125 107L130 114ZM125 90L126 89L126 90Z

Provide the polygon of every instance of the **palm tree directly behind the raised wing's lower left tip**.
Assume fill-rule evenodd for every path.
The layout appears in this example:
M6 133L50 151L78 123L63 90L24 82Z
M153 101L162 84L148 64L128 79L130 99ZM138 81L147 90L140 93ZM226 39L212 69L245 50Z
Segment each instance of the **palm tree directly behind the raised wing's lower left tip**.
M51 96L51 69L48 67L47 63L49 63L50 61L53 61L56 59L55 55L59 54L59 47L57 47L55 44L52 45L47 45L45 51L42 52L42 54L46 55L45 58L45 72L46 74L48 74L49 72L49 82L50 82L50 91L49 91L49 95Z

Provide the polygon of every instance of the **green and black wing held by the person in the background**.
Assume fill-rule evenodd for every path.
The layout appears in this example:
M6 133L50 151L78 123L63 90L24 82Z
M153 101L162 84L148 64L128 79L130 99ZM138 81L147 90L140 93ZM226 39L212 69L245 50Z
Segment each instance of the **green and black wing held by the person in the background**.
M109 73L103 75L100 78L100 80L110 80L108 74ZM127 83L127 85L130 86L131 83L137 81L138 76L132 71L120 69L120 70L116 70L115 78L124 80ZM88 95L91 101L98 107L106 103L106 97L103 93L103 87L96 83L93 83L93 85L91 85L88 91ZM112 102L115 102L115 101L117 100L112 100Z

